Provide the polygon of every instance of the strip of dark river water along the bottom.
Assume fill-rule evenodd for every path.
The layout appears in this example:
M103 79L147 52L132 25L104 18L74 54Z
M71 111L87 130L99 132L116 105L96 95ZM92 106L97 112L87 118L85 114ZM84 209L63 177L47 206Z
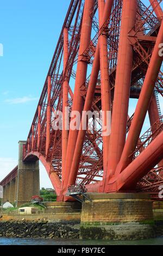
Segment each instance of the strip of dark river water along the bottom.
M20 239L1 237L0 245L163 245L163 236L137 241L92 241L61 239Z

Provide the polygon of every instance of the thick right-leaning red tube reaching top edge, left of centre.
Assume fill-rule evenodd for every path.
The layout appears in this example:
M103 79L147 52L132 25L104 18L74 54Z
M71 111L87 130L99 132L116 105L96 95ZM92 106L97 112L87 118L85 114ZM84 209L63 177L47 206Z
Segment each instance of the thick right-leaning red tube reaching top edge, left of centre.
M84 4L84 13L83 13L83 22L82 22L82 31L80 36L80 47L79 47L79 57L78 57L78 66L76 73L76 83L74 87L74 96L73 96L73 105L72 111L79 111L80 115L82 114L83 107L83 98L80 94L80 86L85 83L86 73L87 73L87 61L83 59L83 52L90 43L91 39L91 30L92 30L92 17L91 13L95 5L95 0L85 0ZM72 118L71 118L72 120ZM64 188L67 187L68 176L70 175L70 169L74 154L74 149L76 146L78 136L78 130L71 130L68 135L68 145L67 145L67 154L65 162L65 178L64 178Z

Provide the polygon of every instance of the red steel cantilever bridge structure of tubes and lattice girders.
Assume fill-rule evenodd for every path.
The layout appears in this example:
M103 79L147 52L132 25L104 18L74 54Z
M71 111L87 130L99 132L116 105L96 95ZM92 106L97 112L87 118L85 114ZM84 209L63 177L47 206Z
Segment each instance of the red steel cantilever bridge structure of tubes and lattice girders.
M68 187L88 192L148 192L163 184L163 12L159 0L71 0L23 161L40 159L58 201ZM145 5L146 4L146 5ZM129 99L137 99L129 116ZM162 100L162 99L161 99ZM81 115L81 129L54 130L54 115ZM82 129L84 111L111 111L111 133ZM146 115L151 128L145 130ZM87 118L87 125L88 125ZM12 175L16 175L16 169ZM7 176L9 179L9 176Z

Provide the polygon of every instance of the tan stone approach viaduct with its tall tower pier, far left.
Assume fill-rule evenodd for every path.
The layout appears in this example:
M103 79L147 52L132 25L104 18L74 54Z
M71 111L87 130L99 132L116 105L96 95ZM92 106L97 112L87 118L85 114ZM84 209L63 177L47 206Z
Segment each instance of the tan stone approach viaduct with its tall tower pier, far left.
M7 175L0 185L3 187L3 202L20 206L29 203L33 195L40 193L39 160L23 162L23 145L19 141L18 165Z

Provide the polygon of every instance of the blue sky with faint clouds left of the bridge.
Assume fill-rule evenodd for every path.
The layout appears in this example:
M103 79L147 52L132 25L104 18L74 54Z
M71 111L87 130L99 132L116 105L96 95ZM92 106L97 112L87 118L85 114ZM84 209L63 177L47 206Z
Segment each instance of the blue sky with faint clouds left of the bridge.
M148 0L144 1L148 3ZM0 180L17 164L70 0L0 0ZM51 187L41 166L41 186Z

